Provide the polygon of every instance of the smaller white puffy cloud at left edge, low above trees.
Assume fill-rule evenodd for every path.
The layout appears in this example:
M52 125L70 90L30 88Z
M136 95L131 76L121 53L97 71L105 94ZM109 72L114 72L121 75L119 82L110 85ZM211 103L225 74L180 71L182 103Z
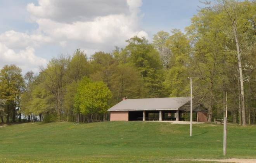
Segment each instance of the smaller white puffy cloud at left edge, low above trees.
M22 68L23 72L33 70L38 71L39 66L45 66L47 61L35 55L35 49L27 47L16 53L5 44L0 43L0 67L15 64Z

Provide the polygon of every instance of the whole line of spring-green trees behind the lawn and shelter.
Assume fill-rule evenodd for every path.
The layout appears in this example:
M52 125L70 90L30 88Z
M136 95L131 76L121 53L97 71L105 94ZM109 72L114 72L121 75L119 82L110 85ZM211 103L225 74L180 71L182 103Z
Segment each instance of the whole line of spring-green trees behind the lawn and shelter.
M48 61L38 74L22 76L16 65L0 71L2 122L102 121L122 97L189 96L208 109L208 122L221 119L242 125L256 121L255 1L206 2L185 32L159 31L149 42L137 36L124 48L99 51L88 58Z

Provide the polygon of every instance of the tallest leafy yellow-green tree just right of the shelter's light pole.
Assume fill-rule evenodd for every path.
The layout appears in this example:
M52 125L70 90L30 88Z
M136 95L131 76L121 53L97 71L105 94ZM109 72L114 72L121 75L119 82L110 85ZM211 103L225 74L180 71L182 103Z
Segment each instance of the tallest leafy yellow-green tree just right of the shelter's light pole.
M224 78L225 35L219 20L221 15L204 8L192 18L192 25L187 28L193 46L190 74L195 77L197 99L208 108L208 122L220 103L219 93L223 92L220 85Z

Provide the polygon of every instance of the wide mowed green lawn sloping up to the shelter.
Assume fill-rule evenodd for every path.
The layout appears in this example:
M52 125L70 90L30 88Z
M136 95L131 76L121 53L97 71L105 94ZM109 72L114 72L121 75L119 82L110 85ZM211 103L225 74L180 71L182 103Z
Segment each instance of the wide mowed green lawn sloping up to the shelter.
M24 123L0 128L0 162L186 162L224 158L223 125ZM256 126L228 124L227 158L256 158ZM195 161L198 162L198 161Z

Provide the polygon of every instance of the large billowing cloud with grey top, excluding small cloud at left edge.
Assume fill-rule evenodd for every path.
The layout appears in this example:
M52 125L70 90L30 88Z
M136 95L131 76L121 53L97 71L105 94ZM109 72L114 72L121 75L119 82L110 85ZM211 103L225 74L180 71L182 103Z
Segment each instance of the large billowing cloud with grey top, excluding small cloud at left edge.
M38 6L29 3L27 9L38 32L61 46L77 42L85 50L110 50L124 46L135 35L148 37L138 27L141 5L141 0L40 0Z

